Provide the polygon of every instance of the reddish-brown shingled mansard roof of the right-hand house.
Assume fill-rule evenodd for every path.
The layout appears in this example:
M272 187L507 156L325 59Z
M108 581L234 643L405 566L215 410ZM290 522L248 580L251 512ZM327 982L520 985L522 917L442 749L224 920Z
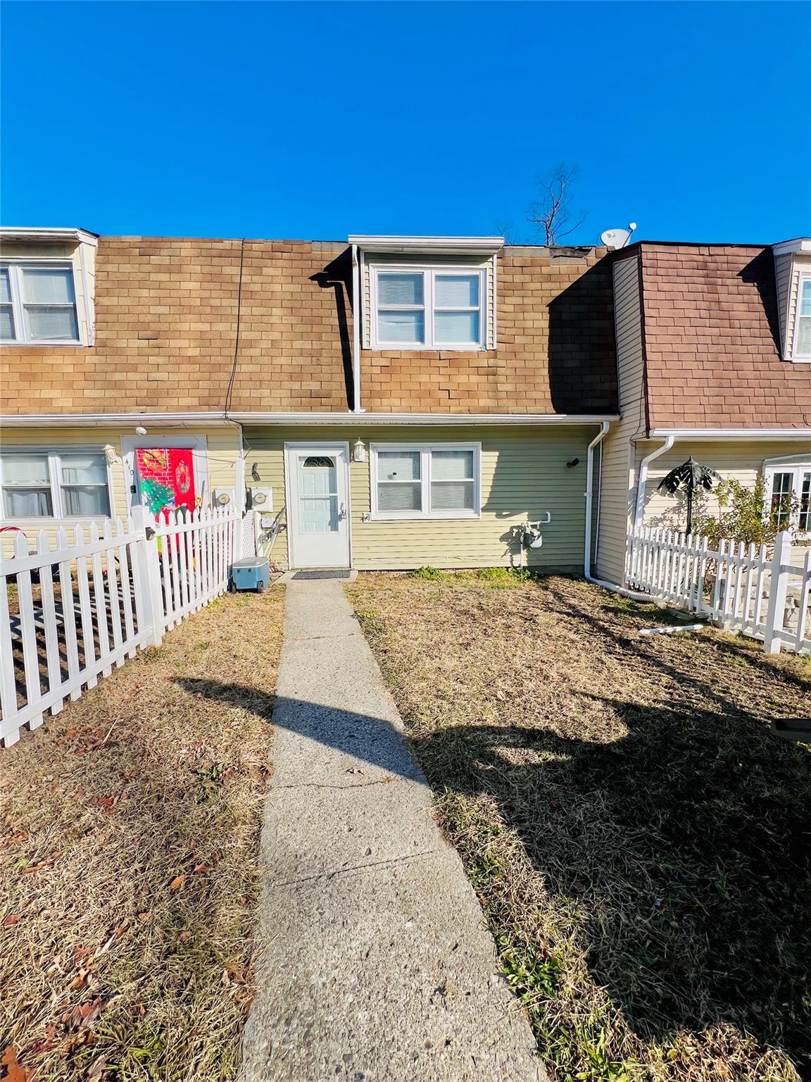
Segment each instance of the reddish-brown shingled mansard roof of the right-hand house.
M641 241L651 428L806 427L811 365L781 357L762 246Z

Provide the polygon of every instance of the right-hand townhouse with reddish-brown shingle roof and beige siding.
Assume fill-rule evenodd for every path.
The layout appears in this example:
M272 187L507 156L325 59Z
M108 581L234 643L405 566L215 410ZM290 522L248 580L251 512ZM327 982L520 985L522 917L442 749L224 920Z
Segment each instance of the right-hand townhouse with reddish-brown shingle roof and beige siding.
M691 454L748 487L763 476L768 506L811 539L811 240L610 259L621 420L601 445L599 577L623 581L635 524L684 529L657 485Z

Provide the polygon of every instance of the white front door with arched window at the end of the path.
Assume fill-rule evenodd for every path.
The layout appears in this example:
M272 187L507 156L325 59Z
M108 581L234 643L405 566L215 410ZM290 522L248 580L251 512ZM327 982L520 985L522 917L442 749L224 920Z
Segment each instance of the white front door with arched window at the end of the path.
M285 444L292 567L349 566L349 445Z

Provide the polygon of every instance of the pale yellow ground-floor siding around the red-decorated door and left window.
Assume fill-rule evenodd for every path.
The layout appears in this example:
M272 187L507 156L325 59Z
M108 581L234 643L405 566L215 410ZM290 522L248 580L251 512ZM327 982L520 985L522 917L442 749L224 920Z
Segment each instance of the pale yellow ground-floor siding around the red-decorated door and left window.
M49 428L17 428L6 426L3 428L0 438L0 450L11 448L41 448L42 450L62 450L70 447L81 447L101 451L106 444L115 448L119 461L114 463L108 471L110 478L110 491L112 500L112 518L125 518L130 507L130 493L127 488L124 477L124 464L121 459L121 437L134 435L134 428L127 428L124 432L120 427L62 427L53 426ZM160 447L161 436L204 436L205 454L208 460L209 489L216 487L232 488L235 478L235 463L239 458L240 445L239 433L232 426L222 427L161 427L150 428L149 437L155 447ZM210 494L210 491L209 491ZM32 539L43 529L53 544L56 530L62 525L76 525L89 523L89 518L70 518L55 520L53 518L9 518L2 519L2 525L18 526L29 539ZM2 540L3 556L10 554L10 533L0 535Z

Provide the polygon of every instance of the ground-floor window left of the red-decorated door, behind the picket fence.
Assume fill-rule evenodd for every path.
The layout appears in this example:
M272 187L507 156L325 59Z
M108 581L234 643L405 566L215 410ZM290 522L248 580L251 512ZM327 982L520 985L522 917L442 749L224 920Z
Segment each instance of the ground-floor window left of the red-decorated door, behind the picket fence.
M107 518L109 476L103 451L3 451L3 518Z

